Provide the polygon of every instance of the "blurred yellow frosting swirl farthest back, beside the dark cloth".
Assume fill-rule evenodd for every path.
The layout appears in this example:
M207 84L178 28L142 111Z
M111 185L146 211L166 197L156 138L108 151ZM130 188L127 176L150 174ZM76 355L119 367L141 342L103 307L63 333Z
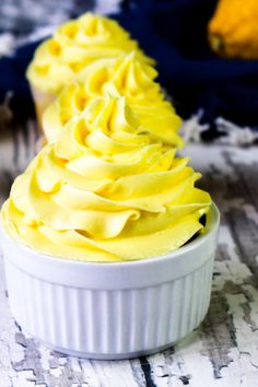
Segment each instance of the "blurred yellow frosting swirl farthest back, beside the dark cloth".
M27 78L34 87L57 95L89 63L131 50L141 60L153 63L116 21L85 13L58 27L37 48Z

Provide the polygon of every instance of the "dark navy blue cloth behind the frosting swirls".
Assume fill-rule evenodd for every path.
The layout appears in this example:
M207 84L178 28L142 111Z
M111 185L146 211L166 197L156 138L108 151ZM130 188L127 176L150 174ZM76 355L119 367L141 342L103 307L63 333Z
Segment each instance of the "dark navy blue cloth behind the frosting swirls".
M207 24L216 0L124 1L113 15L157 61L160 82L173 95L178 113L188 118L200 107L203 120L218 116L238 125L258 125L258 61L221 59L207 40ZM0 98L14 90L19 116L32 112L24 78L36 45L0 60Z

